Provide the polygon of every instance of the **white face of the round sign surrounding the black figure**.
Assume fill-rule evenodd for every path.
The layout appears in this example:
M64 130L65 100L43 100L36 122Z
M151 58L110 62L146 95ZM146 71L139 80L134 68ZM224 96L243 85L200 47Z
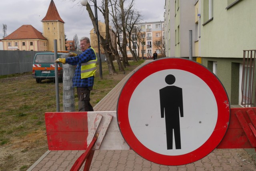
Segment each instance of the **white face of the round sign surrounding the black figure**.
M159 90L168 86L165 77L169 74L176 78L172 85L182 88L184 110L180 117L181 149L175 148L173 136L173 150L166 150L167 123L161 118L159 95ZM190 72L172 69L156 72L140 82L128 110L134 135L148 149L164 155L182 155L198 149L214 131L218 117L217 103L208 85Z

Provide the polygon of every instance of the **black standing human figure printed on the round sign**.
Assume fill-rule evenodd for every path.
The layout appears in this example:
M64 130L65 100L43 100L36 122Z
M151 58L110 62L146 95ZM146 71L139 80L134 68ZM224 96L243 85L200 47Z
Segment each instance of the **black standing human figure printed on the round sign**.
M167 149L172 149L172 136L176 149L181 149L180 140L180 117L183 117L182 88L172 84L176 81L173 75L168 75L165 82L168 86L160 89L161 117L165 117Z

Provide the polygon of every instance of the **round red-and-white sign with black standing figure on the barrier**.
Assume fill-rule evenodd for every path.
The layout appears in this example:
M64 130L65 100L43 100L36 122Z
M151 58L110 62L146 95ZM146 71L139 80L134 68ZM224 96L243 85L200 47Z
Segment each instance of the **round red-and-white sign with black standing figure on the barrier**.
M230 119L226 91L197 62L162 58L137 70L117 105L120 131L138 155L162 165L184 165L212 152Z

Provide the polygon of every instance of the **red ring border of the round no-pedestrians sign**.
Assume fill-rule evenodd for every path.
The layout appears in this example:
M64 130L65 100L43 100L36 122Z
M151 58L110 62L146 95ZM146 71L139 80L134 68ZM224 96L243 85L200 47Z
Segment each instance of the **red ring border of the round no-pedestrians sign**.
M130 98L140 82L155 72L169 69L184 70L201 78L212 90L218 107L218 118L209 139L198 149L183 155L162 155L145 147L134 135L128 118ZM162 58L142 66L124 85L117 104L118 126L128 145L143 158L161 165L185 165L211 153L224 137L230 120L229 99L221 82L203 65L184 58Z

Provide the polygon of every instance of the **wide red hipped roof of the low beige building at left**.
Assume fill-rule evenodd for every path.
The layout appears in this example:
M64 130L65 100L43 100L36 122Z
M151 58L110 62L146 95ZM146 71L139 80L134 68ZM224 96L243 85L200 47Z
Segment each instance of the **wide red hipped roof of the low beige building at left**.
M41 32L36 30L31 25L22 25L20 28L6 36L2 40L15 40L15 39L42 39L47 40Z

